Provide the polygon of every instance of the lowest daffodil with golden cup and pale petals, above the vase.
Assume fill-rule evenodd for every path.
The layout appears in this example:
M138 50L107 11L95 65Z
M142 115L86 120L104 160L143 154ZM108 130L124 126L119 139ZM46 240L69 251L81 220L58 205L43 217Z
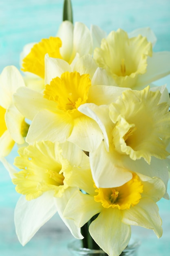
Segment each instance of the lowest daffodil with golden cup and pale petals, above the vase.
M81 179L78 186L85 189ZM126 248L131 236L130 225L152 229L158 238L162 236L156 202L165 193L165 186L159 178L132 173L132 178L122 186L93 186L91 193L89 191L90 188L88 194L75 191L66 205L64 217L82 227L98 214L89 226L89 233L108 255L119 256Z

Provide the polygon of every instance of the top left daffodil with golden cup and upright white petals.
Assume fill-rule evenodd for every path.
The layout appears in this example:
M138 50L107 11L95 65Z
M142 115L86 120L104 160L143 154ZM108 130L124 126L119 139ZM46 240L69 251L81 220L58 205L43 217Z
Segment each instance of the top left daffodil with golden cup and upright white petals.
M91 32L83 23L76 22L73 26L71 22L64 21L59 28L57 37L51 36L50 38L42 39L40 43L33 45L28 55L22 53L22 56L26 55L23 58L22 70L36 74L44 79L45 54L49 54L52 58L63 59L70 64L76 54L79 56L88 53L92 54L92 44Z

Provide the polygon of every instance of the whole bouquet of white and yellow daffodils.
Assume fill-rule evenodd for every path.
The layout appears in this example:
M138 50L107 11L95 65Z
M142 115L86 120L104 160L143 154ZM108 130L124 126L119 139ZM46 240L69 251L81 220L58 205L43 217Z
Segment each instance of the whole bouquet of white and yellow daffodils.
M170 99L152 82L170 74L170 52L153 52L155 42L149 28L106 35L65 20L55 37L24 47L25 73L2 71L0 159L22 194L22 245L57 211L84 247L110 256L126 248L131 225L161 237ZM15 143L17 168L5 159Z

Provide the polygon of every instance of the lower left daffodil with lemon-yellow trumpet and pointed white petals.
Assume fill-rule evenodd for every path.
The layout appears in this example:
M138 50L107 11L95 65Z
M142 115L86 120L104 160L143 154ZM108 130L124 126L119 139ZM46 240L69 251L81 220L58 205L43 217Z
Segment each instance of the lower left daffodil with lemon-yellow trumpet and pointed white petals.
M73 236L82 239L80 229L73 220L63 218L63 212L78 189L79 176L75 178L75 173L82 173L85 182L91 176L89 158L70 142L59 145L39 141L19 148L18 153L14 162L20 169L18 173L11 171L5 159L3 163L13 177L16 191L23 194L15 207L15 227L20 243L25 245L56 211Z

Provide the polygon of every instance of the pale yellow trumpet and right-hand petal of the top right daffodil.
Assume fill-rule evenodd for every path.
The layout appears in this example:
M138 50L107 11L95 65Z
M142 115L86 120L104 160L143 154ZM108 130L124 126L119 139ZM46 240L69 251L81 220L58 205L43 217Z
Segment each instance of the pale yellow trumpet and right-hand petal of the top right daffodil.
M122 29L102 39L100 48L94 50L94 59L121 87L142 88L170 74L170 52L152 53L152 43L146 37L129 38Z

